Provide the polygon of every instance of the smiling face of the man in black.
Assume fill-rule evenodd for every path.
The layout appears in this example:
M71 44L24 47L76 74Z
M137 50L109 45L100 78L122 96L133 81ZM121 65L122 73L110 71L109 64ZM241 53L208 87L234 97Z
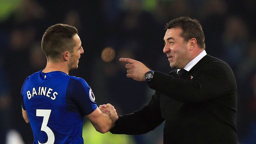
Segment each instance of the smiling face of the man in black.
M170 66L172 68L183 69L189 62L189 43L184 42L180 36L181 28L167 29L164 36L164 49Z

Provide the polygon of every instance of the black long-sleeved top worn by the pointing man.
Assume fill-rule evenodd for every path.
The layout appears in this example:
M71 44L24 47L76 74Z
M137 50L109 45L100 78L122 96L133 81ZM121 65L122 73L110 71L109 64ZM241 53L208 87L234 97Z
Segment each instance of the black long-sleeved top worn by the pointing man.
M236 80L220 59L204 56L184 79L155 71L142 109L119 116L113 134L144 134L165 120L164 144L237 144Z

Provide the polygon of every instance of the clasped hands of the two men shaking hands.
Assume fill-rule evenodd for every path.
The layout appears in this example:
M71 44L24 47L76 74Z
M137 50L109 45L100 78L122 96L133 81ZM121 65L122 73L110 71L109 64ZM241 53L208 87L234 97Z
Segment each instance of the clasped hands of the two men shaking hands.
M113 123L115 123L118 119L116 109L111 104L103 104L99 106L99 109L101 112L105 115L109 115L109 118L112 120Z

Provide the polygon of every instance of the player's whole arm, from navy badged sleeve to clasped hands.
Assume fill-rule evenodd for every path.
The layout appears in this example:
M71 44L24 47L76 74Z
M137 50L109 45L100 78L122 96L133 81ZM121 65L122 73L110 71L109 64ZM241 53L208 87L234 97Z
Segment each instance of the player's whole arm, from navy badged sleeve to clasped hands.
M82 78L70 79L67 88L67 100L74 102L79 108L79 112L85 115L94 128L101 133L106 133L112 128L114 122L118 119L115 108L108 104L110 113L103 114L96 103L95 96L91 87ZM68 106L71 111L76 111Z

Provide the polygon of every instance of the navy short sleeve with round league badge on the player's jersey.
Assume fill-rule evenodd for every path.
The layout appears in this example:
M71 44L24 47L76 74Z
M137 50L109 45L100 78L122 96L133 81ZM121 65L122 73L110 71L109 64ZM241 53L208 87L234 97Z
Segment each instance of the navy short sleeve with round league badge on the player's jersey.
M71 101L76 106L72 106ZM77 109L82 115L88 115L96 108L95 96L87 82L82 78L71 78L67 88L67 109L72 112L76 112Z

